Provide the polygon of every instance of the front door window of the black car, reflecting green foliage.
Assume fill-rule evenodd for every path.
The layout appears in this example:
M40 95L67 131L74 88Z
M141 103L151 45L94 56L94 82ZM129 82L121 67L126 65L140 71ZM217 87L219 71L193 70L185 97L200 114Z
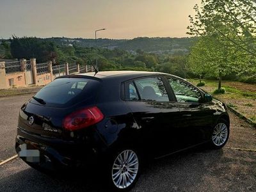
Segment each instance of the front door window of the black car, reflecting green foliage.
M177 102L199 102L202 95L195 86L188 84L180 79L168 79L170 86L177 99Z

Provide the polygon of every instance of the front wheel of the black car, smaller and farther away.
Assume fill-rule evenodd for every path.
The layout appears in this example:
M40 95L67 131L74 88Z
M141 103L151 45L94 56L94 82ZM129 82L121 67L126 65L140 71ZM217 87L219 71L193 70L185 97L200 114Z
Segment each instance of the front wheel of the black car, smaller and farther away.
M228 141L229 137L229 124L227 120L220 119L217 124L214 125L211 134L210 146L213 149L222 148Z

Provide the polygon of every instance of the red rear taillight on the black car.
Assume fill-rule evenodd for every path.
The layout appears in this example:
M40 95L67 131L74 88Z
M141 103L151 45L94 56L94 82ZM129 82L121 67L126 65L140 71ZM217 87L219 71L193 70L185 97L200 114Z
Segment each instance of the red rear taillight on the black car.
M70 131L83 129L90 125L97 124L103 118L104 115L97 107L80 109L65 117L63 120L63 127Z

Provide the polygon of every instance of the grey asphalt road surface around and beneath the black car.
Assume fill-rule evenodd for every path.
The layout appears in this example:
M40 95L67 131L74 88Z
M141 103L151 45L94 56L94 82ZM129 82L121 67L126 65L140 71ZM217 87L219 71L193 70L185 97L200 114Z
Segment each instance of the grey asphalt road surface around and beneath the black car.
M31 95L0 99L0 156L15 154L19 108ZM256 191L256 129L230 114L221 150L194 148L148 165L132 191ZM100 173L98 173L100 174ZM104 191L90 175L49 176L16 158L0 166L0 191Z

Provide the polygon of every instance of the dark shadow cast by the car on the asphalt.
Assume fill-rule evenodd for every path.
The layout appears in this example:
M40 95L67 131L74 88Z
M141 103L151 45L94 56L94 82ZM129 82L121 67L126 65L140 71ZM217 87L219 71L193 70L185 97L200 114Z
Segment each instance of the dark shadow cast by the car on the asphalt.
M197 147L152 161L143 168L132 191L156 191L159 185L170 191L186 189L191 181L200 183L203 175L222 156L222 150ZM106 191L97 175L102 173L72 172L61 175L40 173L27 168L1 179L4 191ZM157 187L158 186L158 187ZM156 188L157 187L157 188Z

